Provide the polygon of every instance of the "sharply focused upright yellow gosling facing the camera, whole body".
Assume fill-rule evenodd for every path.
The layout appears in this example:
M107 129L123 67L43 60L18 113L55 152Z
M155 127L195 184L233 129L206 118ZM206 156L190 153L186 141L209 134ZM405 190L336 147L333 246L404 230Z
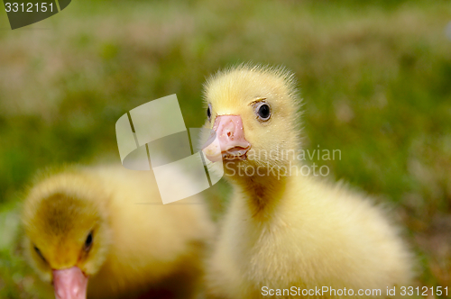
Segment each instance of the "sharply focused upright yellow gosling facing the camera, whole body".
M381 289L384 297L410 282L410 253L380 207L296 172L299 99L290 72L231 68L207 81L205 100L206 126L235 187L207 270L208 297L299 297L291 286L352 288L355 298ZM204 152L217 160L211 145Z

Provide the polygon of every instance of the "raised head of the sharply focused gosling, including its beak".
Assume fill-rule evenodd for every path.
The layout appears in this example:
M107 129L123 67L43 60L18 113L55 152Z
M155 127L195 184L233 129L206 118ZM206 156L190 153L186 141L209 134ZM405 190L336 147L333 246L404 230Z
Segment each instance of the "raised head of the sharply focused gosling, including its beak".
M207 159L223 159L226 172L289 162L283 150L299 146L299 98L289 71L250 65L226 69L207 80L204 95L205 126L218 141L207 142Z

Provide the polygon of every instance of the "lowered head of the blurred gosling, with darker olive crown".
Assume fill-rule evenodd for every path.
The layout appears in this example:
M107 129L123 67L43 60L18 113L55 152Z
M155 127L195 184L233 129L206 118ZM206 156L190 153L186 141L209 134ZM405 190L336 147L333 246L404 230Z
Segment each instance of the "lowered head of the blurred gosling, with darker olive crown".
M24 202L26 255L57 299L86 299L88 277L105 261L110 232L102 196L88 178L65 174L41 181Z

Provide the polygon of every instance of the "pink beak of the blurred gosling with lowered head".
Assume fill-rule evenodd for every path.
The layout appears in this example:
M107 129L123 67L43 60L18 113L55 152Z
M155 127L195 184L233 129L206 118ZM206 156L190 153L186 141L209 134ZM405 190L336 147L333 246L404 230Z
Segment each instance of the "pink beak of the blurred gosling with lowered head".
M53 270L56 299L86 299L87 276L79 267Z

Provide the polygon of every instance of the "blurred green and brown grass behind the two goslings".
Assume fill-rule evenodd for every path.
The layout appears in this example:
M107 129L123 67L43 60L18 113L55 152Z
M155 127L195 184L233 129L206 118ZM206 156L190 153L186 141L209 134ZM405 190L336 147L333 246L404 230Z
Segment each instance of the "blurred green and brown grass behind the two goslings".
M448 1L74 1L0 30L0 297L36 296L7 236L37 169L118 160L117 118L164 95L201 126L205 78L249 60L296 73L304 147L342 152L312 162L391 201L419 283L451 287L450 21ZM207 191L216 213L227 191Z

